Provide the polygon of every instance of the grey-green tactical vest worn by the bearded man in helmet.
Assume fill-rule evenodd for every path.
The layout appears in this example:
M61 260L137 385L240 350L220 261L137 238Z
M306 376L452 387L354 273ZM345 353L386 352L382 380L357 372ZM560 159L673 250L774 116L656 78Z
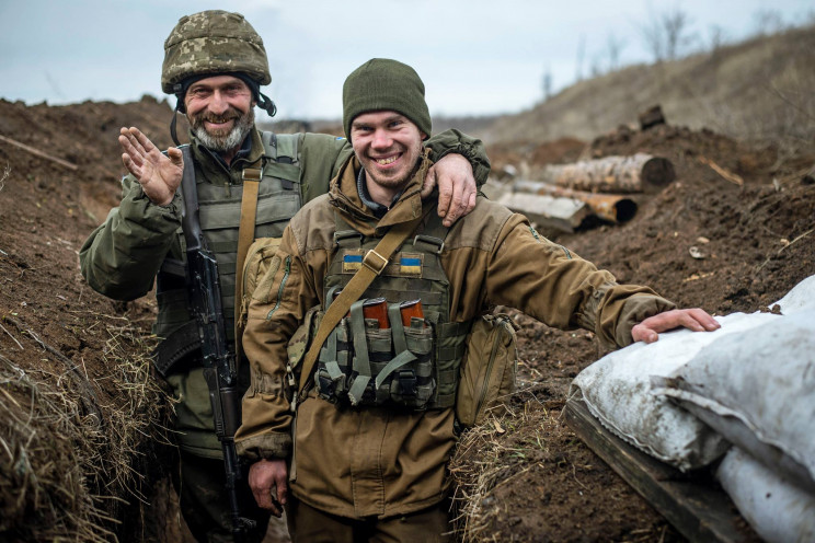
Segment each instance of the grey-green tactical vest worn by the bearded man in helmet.
M298 135L262 132L262 141L264 155L261 164L249 165L243 170L242 175L243 178L250 175L260 176L261 180L257 192L255 236L279 238L291 217L302 206L300 164L297 152ZM185 167L192 166L192 164L185 164ZM221 307L227 335L231 342L234 339L236 268L243 184L231 183L227 172L223 172L222 178L227 178L228 182L226 184L210 183L200 175L196 175L196 187L200 228L206 238L207 247L215 254L218 264ZM186 244L181 229L176 235L181 245L181 254L184 255ZM188 293L183 274L183 262L165 262L162 266L156 294L159 315L153 331L159 337L168 338L165 342L193 345L198 338L195 322L192 321L187 310ZM181 353L186 349L175 347L168 350Z

